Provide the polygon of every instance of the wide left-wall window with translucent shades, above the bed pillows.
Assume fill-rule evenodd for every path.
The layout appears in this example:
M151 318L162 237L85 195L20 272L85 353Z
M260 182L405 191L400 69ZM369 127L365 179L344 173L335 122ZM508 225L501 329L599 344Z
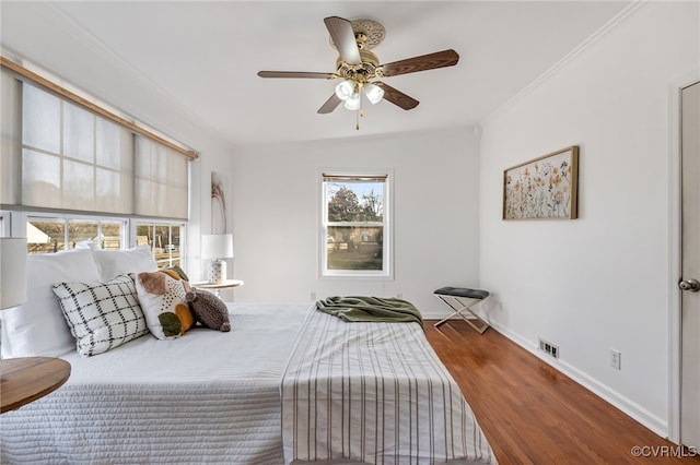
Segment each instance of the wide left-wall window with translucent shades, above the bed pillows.
M196 156L90 96L4 62L0 75L0 235L27 237L30 253L148 243L161 266L180 264Z

